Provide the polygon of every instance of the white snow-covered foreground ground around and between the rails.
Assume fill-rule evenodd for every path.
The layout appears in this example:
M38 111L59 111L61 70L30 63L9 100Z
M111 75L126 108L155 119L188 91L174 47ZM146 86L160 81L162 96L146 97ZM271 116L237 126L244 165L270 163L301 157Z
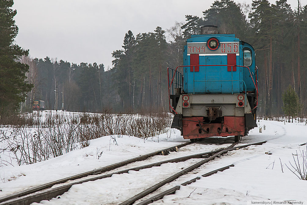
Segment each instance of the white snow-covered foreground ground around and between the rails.
M300 150L306 150L306 146L299 146L307 141L305 122L260 120L257 124L258 128L251 130L248 136L243 137L240 144L264 140L267 140L267 143L228 152L161 187L148 197L209 171L234 164L234 167L223 172L201 177L195 183L181 186L176 194L165 196L154 204L247 204L250 200L307 200L307 181L300 180L286 167L286 165L290 166L290 162L294 163L292 153L296 154L298 151L300 154ZM262 133L259 133L260 127ZM43 162L2 167L0 197L186 141L175 129L168 134L160 135L159 142L157 139L157 137L144 140L132 136L104 136L91 140L88 147ZM167 156L154 156L118 170L207 152L228 145L191 144L180 148L179 152L171 152ZM129 171L129 173L113 175L105 179L76 184L59 198L42 201L41 204L119 204L200 160L168 163L160 167Z

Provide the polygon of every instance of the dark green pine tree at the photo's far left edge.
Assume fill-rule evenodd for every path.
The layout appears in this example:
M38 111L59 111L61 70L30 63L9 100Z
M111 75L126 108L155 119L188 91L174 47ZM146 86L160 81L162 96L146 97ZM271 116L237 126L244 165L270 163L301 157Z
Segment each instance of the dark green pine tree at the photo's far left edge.
M12 10L13 0L0 0L0 121L17 111L19 103L25 101L26 93L32 88L26 82L29 66L16 62L27 56L29 50L14 44L18 27L13 20L16 10Z

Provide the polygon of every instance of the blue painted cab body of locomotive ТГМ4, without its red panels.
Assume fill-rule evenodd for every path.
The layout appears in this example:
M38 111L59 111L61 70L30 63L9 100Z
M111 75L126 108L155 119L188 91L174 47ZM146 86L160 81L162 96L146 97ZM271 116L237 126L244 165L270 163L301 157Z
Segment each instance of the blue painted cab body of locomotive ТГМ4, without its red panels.
M210 38L219 40L219 47L212 51L208 49L206 42ZM203 47L204 46L204 47ZM204 48L204 49L202 49ZM243 49L251 50L252 64L249 70L244 67L236 67L236 71L227 71L227 54L236 54L236 65L246 64L243 56ZM199 55L199 72L191 71L190 55ZM245 63L244 63L245 62ZM184 92L185 93L255 93L255 52L251 45L235 38L234 34L216 35L192 35L187 40L184 50ZM193 68L193 67L192 67Z

